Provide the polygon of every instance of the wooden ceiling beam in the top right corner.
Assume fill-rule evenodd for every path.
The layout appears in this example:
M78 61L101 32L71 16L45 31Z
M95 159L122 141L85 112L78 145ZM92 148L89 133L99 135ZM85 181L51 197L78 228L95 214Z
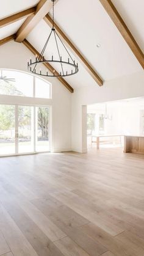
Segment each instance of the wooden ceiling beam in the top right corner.
M139 60L140 65L144 68L144 54L140 49L139 45L135 41L134 37L132 36L131 32L129 31L128 27L124 23L123 19L121 18L120 14L118 13L115 6L112 4L111 0L99 0L103 5L104 9L112 19L117 29L120 31L121 35L123 36L126 43L128 43L129 47L134 53L137 60Z

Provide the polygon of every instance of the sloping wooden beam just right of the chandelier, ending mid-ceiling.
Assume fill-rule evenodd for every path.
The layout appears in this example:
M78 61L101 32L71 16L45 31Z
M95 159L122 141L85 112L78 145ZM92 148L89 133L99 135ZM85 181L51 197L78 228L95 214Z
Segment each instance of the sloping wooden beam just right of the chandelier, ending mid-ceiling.
M44 17L44 20L46 23L51 26L52 25L52 18L47 14ZM98 73L92 68L90 64L88 64L87 60L85 59L84 56L77 50L76 46L71 43L70 39L68 39L67 35L63 33L63 31L60 29L59 26L57 26L56 23L54 23L54 26L56 27L57 34L64 40L65 45L70 48L70 50L73 52L74 56L76 56L77 59L79 59L79 62L84 66L84 68L88 71L88 73L95 79L95 81L98 83L99 86L103 86L103 80L100 78Z

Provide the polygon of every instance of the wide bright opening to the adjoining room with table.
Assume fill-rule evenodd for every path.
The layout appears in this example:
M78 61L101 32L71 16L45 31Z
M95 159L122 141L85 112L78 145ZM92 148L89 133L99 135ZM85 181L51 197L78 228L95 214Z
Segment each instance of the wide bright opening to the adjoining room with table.
M123 148L124 135L144 134L144 98L87 106L87 147Z

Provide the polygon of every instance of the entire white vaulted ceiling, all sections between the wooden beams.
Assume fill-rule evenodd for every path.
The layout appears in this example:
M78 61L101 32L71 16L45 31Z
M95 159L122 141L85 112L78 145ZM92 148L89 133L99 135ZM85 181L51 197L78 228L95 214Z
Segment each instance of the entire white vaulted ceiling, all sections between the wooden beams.
M37 4L37 0L6 0L2 1L0 18L20 12ZM120 15L128 25L135 39L144 48L144 1L112 0ZM51 15L51 13L50 13ZM55 5L56 23L62 28L68 38L77 46L92 67L98 71L104 80L118 78L141 71L138 60L124 41L117 27L110 20L99 0L59 0ZM0 39L15 33L22 21L10 24L0 29ZM27 40L41 51L50 29L45 21L40 23L28 35ZM101 47L97 48L96 44ZM56 50L52 43L51 54ZM64 57L67 57L61 51ZM48 56L48 54L46 54ZM79 64L79 73L67 78L71 86L95 86L96 82Z

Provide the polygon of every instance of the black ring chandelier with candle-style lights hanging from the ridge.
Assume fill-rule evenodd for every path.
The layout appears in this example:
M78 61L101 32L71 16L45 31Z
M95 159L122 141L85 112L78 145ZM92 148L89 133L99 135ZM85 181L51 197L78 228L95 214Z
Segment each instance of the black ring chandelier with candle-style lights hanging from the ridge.
M75 62L75 60L73 60L73 58L71 57L68 49L65 47L65 45L63 44L62 40L60 39L59 35L57 34L56 29L54 28L54 2L56 0L51 0L52 1L52 29L51 29L51 33L49 34L48 39L46 40L46 43L40 53L40 56L35 56L35 61L32 62L32 60L30 59L30 62L28 61L27 63L27 67L29 69L29 71L31 71L31 73L34 73L35 75L40 75L40 76L47 76L47 77L63 77L63 76L71 76L76 74L79 71L78 68L78 64ZM52 34L54 35L54 39L55 39L55 45L56 45L56 50L57 53L59 55L59 59L54 59L54 56L51 56L51 59L46 60L44 53L46 51L46 48L48 46L49 43L49 39L51 38ZM62 59L62 56L60 56L60 51L59 51L59 45L57 42L57 39L59 38L60 43L62 44L63 48L65 49L65 51L68 54L68 61L65 61ZM49 75L48 71L46 71L46 73L42 73L40 68L38 68L38 66L40 64L59 64L60 65L60 73L58 73L55 69L53 70L53 74ZM71 71L65 71L63 69L63 65L67 65L69 68L71 67Z

